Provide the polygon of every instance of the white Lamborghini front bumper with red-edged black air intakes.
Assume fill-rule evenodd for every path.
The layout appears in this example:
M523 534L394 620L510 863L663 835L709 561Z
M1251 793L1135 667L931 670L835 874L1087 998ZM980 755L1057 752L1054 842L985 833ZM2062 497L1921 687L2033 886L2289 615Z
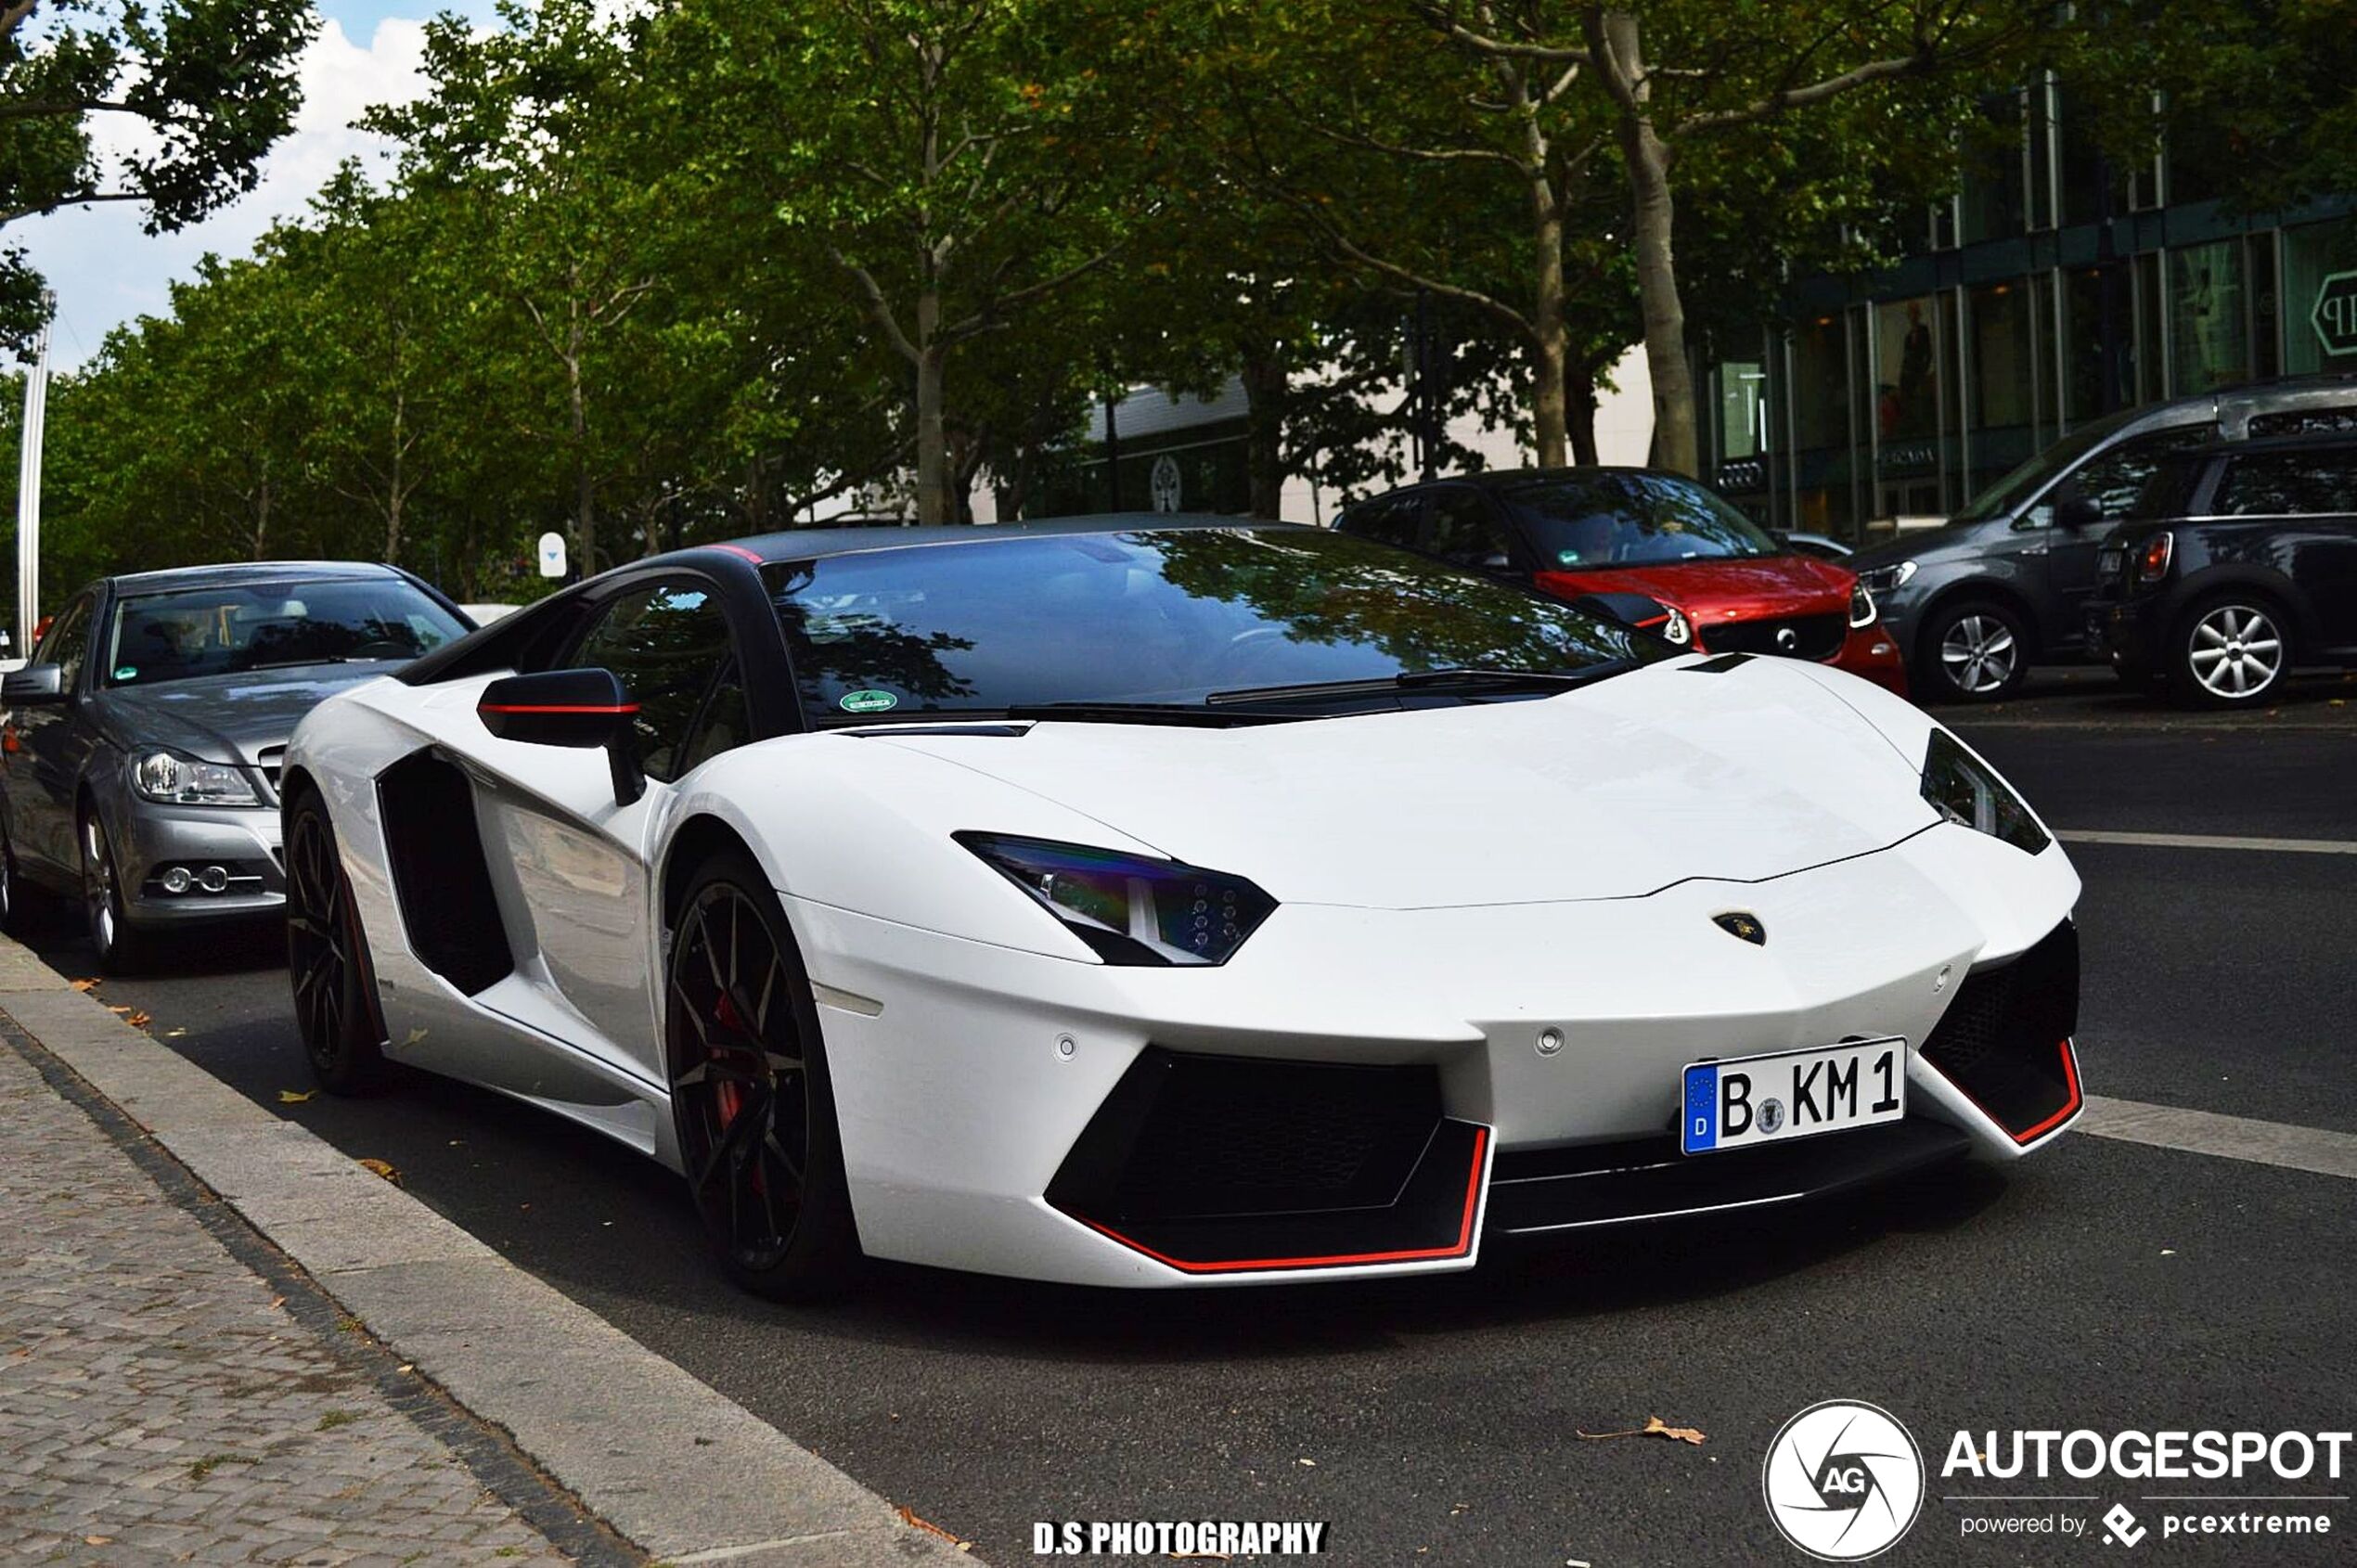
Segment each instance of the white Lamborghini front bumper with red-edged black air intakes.
M1648 898L1285 905L1221 969L1054 960L797 898L787 913L820 1000L870 1254L1183 1285L1454 1271L1475 1264L1485 1233L1805 1195L1926 1158L2018 1158L2077 1113L2067 1035L2048 1061L2067 1063L2069 1099L2025 1120L2006 1085L1935 1066L1935 1030L1987 990L1985 974L2067 929L2077 891L2058 846L2025 856L1937 825L1871 856ZM1730 908L1756 915L1768 943L1718 929L1711 917ZM1605 1188L1589 1184L1570 1219L1549 1219L1532 1203L1539 1188L1523 1186L1532 1162L1626 1172L1631 1148L1669 1144L1688 1061L1867 1035L1914 1042L1900 1125L1912 1132L1768 1151L1805 1167L1798 1184L1742 1153L1650 1160L1669 1172L1659 1193L1619 1181L1622 1198L1600 1203ZM1153 1101L1138 1099L1157 1054L1273 1075L1266 1089L1230 1092L1240 1113L1204 1153L1202 1137L1157 1129ZM1308 1101L1282 1070L1320 1066L1398 1070L1424 1120L1409 1127L1393 1106L1339 1127L1285 1111ZM1197 1096L1181 1120L1221 1127L1219 1103ZM1122 1137L1108 1134L1122 1118ZM1322 1146L1287 1141L1292 1122ZM1332 1191L1301 1195L1351 1148L1374 1151L1376 1177L1353 1165ZM1162 1181L1169 1172L1186 1179ZM1292 1198L1254 1205L1256 1179ZM1721 1198L1697 1203L1697 1184Z

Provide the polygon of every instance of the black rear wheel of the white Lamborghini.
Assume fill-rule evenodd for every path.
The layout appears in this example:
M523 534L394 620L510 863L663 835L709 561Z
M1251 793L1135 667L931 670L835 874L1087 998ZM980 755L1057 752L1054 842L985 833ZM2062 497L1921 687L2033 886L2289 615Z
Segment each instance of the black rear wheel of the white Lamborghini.
M313 790L288 811L285 856L295 1033L321 1089L368 1094L384 1082L384 1014L335 823Z

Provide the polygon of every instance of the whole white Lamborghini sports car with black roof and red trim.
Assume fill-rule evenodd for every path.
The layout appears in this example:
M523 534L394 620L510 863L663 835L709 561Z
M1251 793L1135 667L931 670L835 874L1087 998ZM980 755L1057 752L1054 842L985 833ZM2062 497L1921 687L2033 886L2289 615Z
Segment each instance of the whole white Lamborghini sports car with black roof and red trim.
M785 533L321 705L295 1009L728 1269L1188 1285L2011 1160L2079 877L1923 712L1318 528Z

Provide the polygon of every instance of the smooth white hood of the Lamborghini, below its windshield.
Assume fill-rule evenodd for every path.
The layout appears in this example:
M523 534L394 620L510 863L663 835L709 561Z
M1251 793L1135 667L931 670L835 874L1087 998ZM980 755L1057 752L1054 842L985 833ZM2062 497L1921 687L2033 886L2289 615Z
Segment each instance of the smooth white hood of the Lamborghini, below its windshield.
M1935 821L1916 764L1838 691L1782 660L1723 672L1673 660L1541 700L889 743L1252 877L1285 903L1638 898L1824 865Z

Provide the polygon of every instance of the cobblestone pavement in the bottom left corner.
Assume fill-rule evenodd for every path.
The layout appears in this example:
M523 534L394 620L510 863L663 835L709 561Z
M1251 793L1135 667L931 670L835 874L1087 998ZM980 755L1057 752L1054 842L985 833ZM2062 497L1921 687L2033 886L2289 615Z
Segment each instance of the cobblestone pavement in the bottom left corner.
M0 1042L0 1563L563 1563Z

